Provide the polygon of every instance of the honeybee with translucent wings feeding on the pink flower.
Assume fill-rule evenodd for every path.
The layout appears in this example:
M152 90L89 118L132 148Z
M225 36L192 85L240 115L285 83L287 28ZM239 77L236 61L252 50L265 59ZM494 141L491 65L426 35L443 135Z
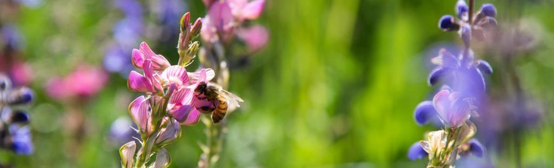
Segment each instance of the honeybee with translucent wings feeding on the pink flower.
M240 107L239 102L244 102L237 95L224 90L222 86L214 83L199 83L196 89L194 89L194 96L199 101L210 102L210 104L197 106L196 109L204 113L212 112L212 121L214 123L219 123L223 120L229 105ZM215 100L218 100L219 104L216 104L217 101Z

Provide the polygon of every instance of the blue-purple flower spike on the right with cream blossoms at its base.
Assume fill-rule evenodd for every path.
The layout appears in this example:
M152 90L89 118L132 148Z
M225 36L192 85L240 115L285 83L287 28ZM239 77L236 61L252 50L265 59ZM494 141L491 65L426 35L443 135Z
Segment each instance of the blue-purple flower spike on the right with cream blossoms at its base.
M476 115L483 95L485 80L483 74L491 74L489 63L474 58L470 48L471 39L486 39L488 31L497 25L496 8L483 4L473 13L474 2L464 0L456 3L457 18L444 15L439 20L439 28L444 31L458 31L464 48L459 55L442 49L431 60L437 67L429 74L431 85L442 82L444 86L432 101L421 102L414 111L416 122L423 125L437 116L444 127L429 132L427 140L414 143L408 151L408 158L415 160L428 156L427 167L453 167L460 156L473 154L482 157L485 148L474 139L476 127L469 119Z

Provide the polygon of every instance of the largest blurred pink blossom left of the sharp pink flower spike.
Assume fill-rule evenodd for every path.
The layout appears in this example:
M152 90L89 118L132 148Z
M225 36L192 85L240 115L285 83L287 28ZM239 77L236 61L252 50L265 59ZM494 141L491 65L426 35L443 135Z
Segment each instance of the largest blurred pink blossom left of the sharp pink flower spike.
M81 65L65 78L53 78L46 86L47 93L56 99L93 96L107 82L107 72L98 67Z

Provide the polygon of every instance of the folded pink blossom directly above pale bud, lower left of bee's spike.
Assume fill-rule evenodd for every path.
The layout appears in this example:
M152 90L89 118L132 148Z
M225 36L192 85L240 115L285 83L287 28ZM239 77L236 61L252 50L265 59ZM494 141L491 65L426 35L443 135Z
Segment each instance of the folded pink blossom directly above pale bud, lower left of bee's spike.
M131 115L140 132L150 135L152 131L152 118L148 112L150 102L144 96L139 96L129 104L129 114Z

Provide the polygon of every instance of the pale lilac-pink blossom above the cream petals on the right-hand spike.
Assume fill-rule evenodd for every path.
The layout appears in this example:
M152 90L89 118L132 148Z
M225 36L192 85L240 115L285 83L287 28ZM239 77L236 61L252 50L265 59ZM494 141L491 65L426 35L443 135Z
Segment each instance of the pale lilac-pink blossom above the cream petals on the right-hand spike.
M459 93L442 90L433 97L433 106L440 120L452 127L460 127L475 109L470 100L461 99Z

